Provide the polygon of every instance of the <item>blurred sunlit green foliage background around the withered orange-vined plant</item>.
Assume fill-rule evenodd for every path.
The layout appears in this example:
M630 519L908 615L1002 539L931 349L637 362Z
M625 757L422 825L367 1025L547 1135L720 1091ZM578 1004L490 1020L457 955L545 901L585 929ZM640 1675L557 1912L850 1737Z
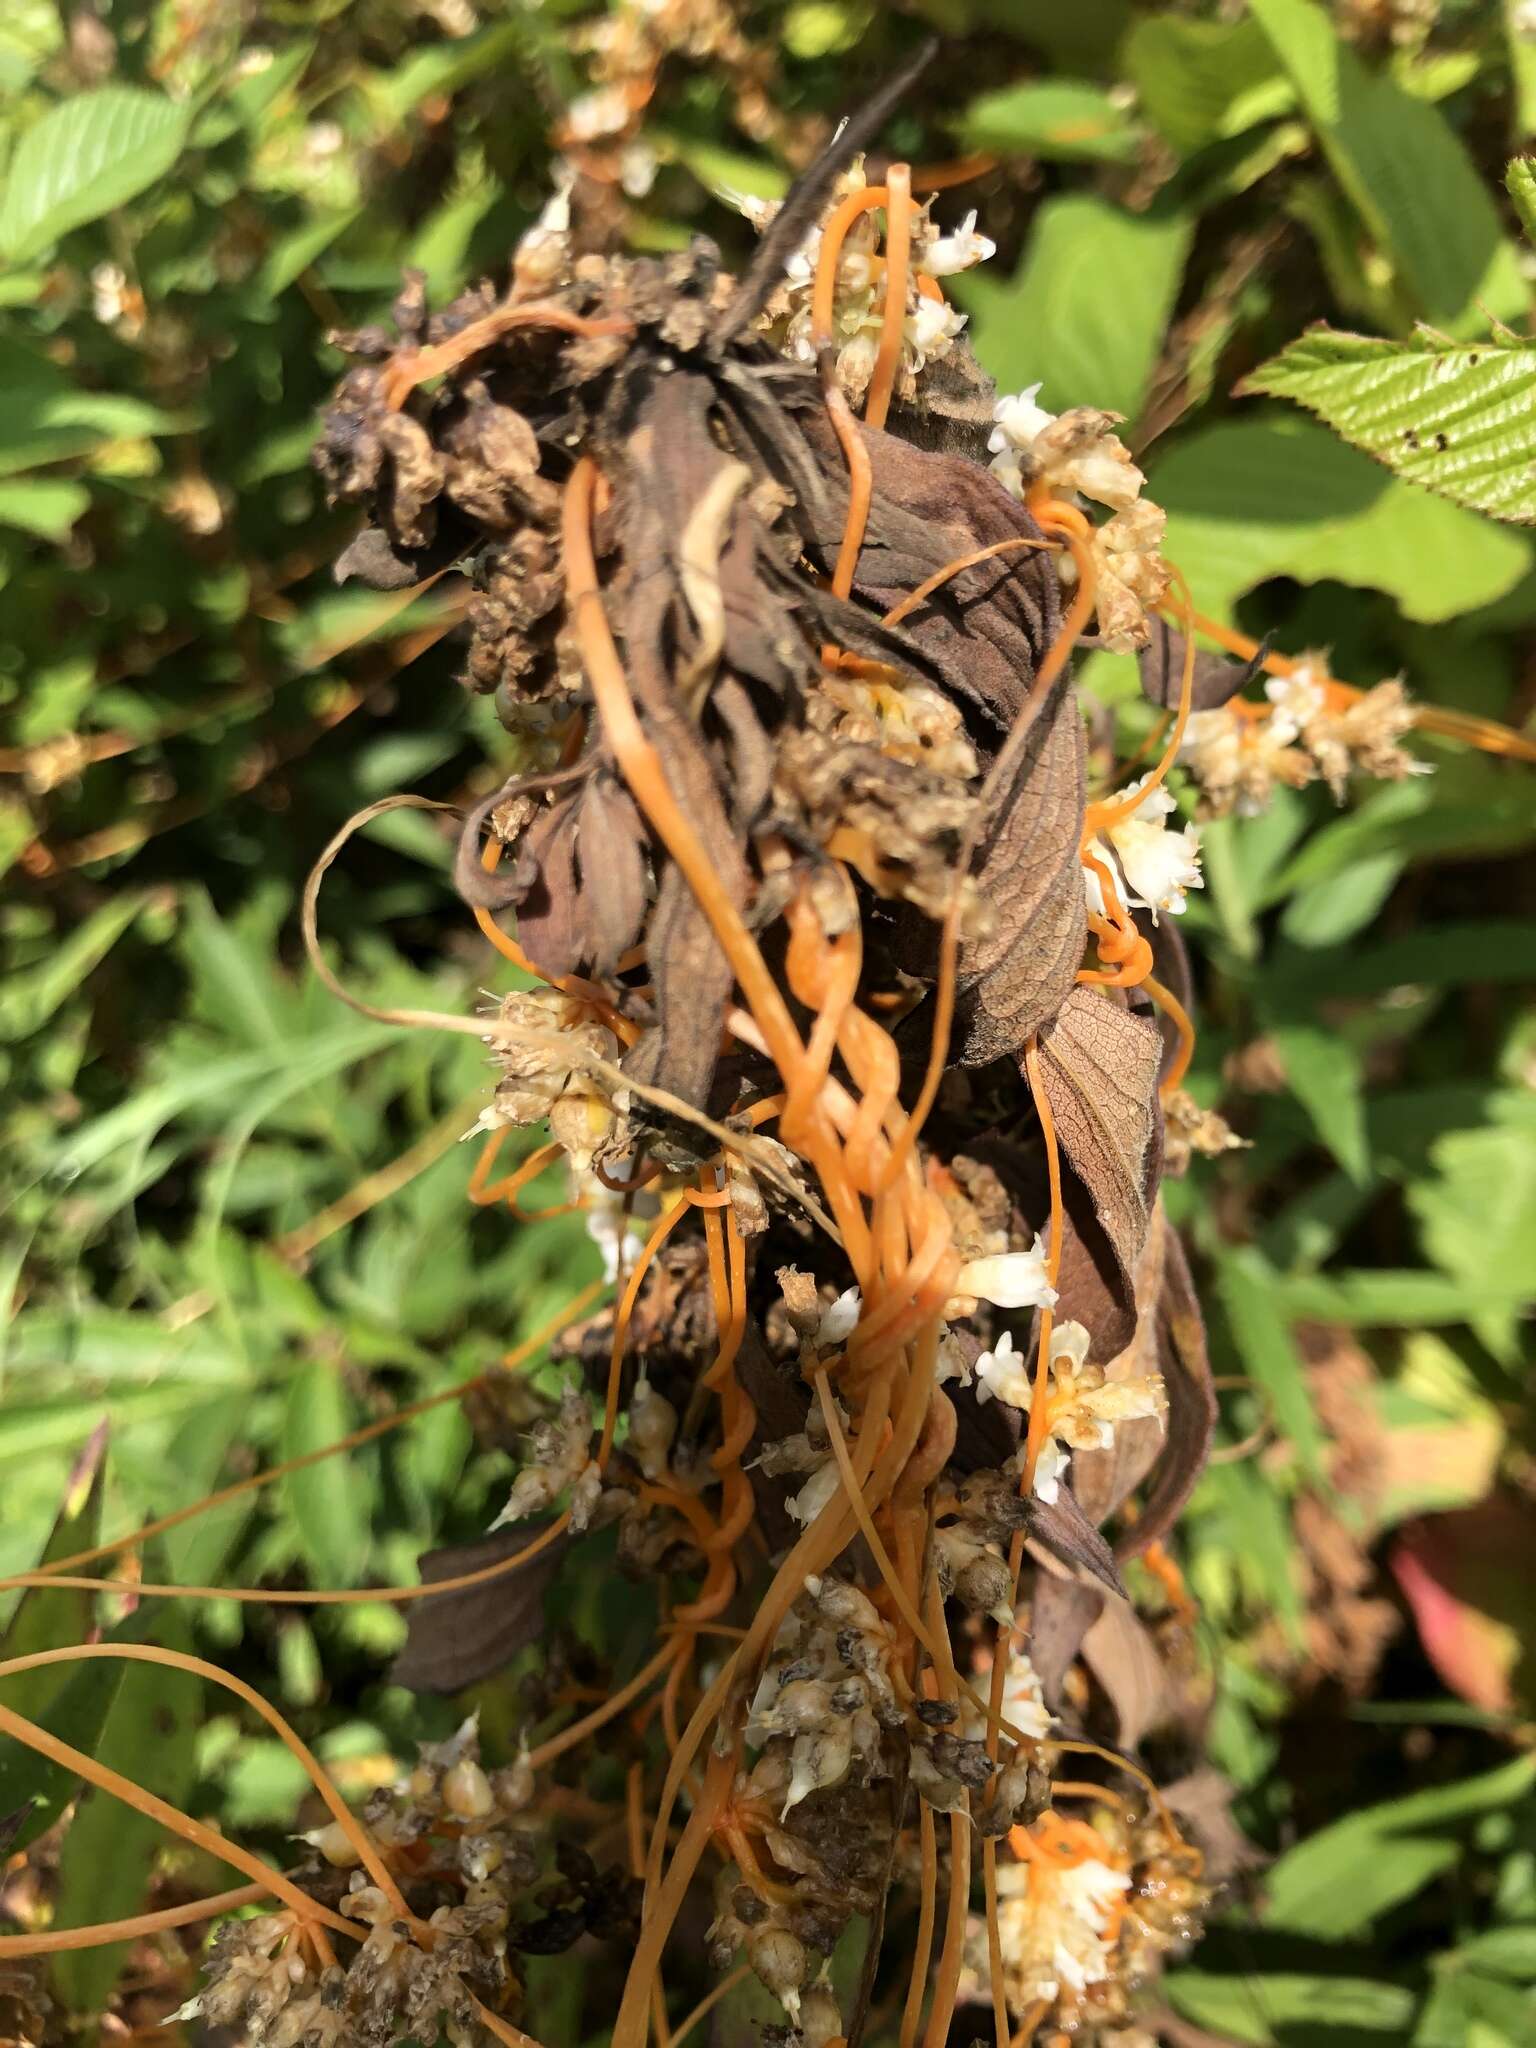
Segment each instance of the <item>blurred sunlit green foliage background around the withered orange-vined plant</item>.
M307 469L342 360L326 334L381 317L406 264L434 299L502 264L549 193L584 43L623 14L618 0L610 14L565 0L4 10L0 1571L43 1554L66 1497L70 1548L164 1513L481 1370L596 1272L580 1219L512 1231L469 1212L469 1159L446 1139L481 1100L477 1049L334 1004L301 967L295 905L356 807L395 788L463 799L508 760L489 707L453 680L453 641L418 651L434 602L391 614L328 578L346 526ZM1462 344L1489 319L1526 328L1532 254L1503 197L1505 158L1536 125L1526 14L1516 0L743 6L776 141L741 127L725 66L674 53L645 111L657 174L629 203L629 240L666 250L702 231L743 252L723 195L782 190L782 147L924 27L942 31L889 143L930 164L999 158L940 203L944 219L979 205L999 244L956 287L999 385L1042 379L1053 408L1130 418L1204 610L1288 651L1331 647L1352 680L1405 672L1421 698L1520 725L1530 532L1231 391L1311 319L1393 338L1427 322ZM1509 463L1528 465L1520 408ZM1130 666L1094 655L1083 684L1135 743ZM1536 2036L1530 1589L1495 1569L1536 1528L1522 1350L1536 780L1423 752L1432 776L1358 786L1341 811L1323 791L1282 793L1212 825L1184 920L1194 1085L1251 1149L1196 1163L1171 1206L1217 1368L1243 1380L1223 1440L1268 1421L1274 1442L1210 1470L1180 1556L1214 1759L1278 1862L1239 1886L1171 2003L1241 2042ZM326 930L375 999L465 1008L506 985L446 866L444 838L406 813L334 868ZM313 1255L285 1255L285 1233L434 1130L430 1169ZM1315 1401L1315 1366L1341 1346L1370 1368L1362 1413L1389 1475L1374 1487L1354 1483L1337 1415ZM70 1495L102 1417L104 1477ZM147 1563L195 1583L387 1585L420 1548L483 1528L506 1473L446 1407L176 1532ZM1493 1686L1503 1704L1448 1692L1411 1622L1352 1694L1319 1647L1327 1587L1303 1503L1350 1532L1372 1599L1397 1597L1382 1569L1397 1528L1427 1518L1415 1542L1462 1599L1462 1694ZM573 1632L621 1655L602 1585L588 1573L563 1591ZM8 1645L78 1638L86 1618L72 1595L33 1599ZM354 1788L453 1720L387 1683L401 1622L383 1604L305 1618L201 1602L119 1626L227 1661ZM4 1698L283 1853L301 1780L227 1698L106 1667L51 1692L8 1681ZM483 1708L504 1735L512 1694L489 1688ZM154 1739L152 1714L184 1741ZM0 1761L0 1812L37 1792L41 1821L68 1790ZM133 1911L166 1868L188 1876L147 1825L86 1800L57 1917ZM59 1964L82 2028L121 1960ZM553 2048L602 2038L569 1982L545 1972L535 1989L526 2023Z

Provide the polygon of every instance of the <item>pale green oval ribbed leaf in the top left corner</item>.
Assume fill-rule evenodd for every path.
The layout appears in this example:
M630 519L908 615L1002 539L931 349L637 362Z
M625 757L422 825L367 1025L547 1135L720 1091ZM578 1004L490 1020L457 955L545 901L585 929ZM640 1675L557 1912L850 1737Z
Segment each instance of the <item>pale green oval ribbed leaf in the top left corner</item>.
M100 86L27 129L0 203L0 250L37 256L72 227L135 199L182 152L188 106L143 86Z

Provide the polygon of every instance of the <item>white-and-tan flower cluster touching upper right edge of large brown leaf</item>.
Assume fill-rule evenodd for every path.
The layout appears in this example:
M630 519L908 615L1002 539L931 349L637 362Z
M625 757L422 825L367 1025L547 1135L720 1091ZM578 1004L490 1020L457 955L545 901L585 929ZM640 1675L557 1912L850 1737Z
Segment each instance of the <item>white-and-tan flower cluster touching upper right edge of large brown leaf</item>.
M1040 406L1038 393L1034 383L997 399L997 424L987 442L991 473L1020 500L1042 485L1067 504L1092 498L1110 508L1112 518L1090 535L1098 633L1104 647L1130 653L1147 645L1147 614L1167 596L1169 571L1161 553L1167 514L1141 496L1147 479L1114 432L1118 412L1073 406L1055 414ZM1075 575L1065 555L1061 573L1063 580Z

